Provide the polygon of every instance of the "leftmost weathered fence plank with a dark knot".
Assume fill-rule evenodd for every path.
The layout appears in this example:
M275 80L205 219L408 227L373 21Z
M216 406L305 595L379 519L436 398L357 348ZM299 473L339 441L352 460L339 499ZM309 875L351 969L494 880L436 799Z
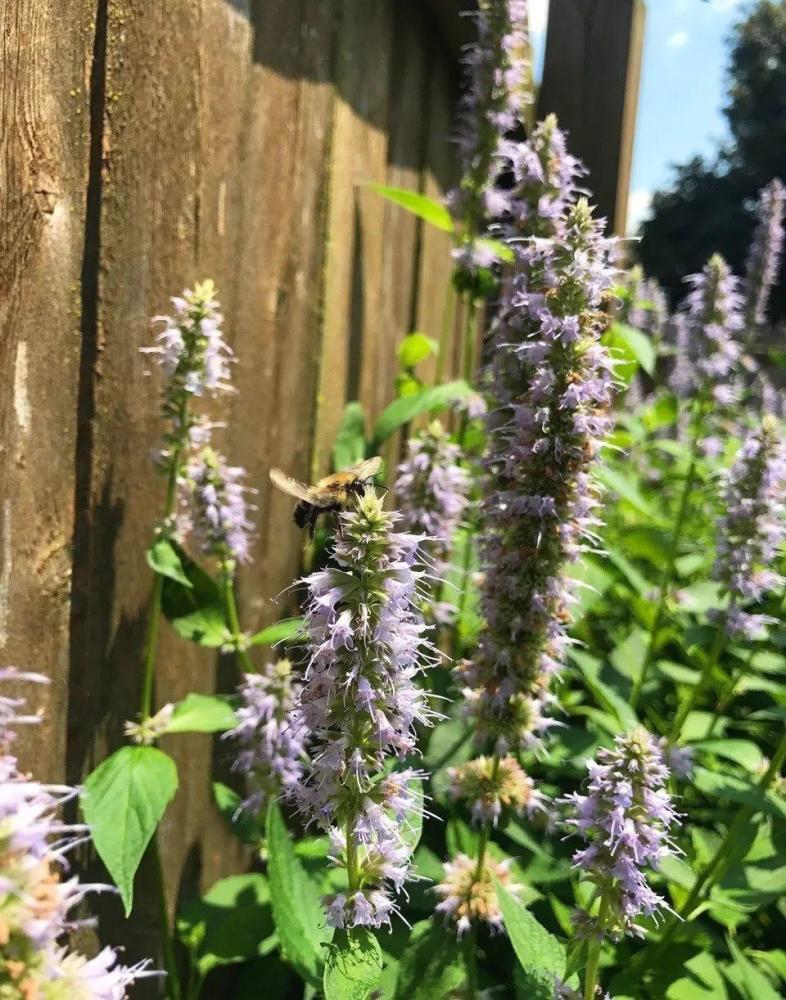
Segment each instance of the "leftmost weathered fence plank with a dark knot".
M65 755L91 44L81 0L0 8L0 666L51 679L15 692L44 711L17 744L44 780Z

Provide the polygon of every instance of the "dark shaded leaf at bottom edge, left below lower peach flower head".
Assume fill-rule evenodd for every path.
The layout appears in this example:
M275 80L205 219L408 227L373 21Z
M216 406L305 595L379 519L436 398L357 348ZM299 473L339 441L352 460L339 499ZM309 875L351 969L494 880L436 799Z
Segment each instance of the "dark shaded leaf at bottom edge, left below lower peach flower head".
M437 1000L464 981L464 963L455 934L423 920L412 928L401 957L395 1000Z

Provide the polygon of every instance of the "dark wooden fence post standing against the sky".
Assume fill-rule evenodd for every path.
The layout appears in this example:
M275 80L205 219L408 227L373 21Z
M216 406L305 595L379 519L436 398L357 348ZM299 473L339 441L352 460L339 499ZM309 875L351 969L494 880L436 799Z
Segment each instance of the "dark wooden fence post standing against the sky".
M554 113L610 232L625 232L644 0L551 0L538 117Z

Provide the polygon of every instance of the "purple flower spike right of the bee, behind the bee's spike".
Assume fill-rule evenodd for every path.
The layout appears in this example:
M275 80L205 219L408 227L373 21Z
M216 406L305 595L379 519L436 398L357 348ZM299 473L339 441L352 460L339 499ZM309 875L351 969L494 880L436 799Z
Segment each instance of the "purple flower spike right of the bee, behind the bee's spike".
M426 536L423 548L439 573L446 567L469 502L469 474L459 464L461 448L437 420L410 439L407 451L406 460L398 467L395 487L402 526Z

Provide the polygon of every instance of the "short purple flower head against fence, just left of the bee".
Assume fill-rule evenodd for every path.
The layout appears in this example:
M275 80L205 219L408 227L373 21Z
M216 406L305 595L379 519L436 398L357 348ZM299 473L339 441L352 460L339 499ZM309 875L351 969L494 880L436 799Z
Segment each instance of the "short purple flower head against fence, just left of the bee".
M242 485L245 469L227 465L212 448L203 448L186 465L179 487L182 506L188 513L180 519L181 530L189 526L202 550L222 561L248 562L253 524L248 519L247 488Z

